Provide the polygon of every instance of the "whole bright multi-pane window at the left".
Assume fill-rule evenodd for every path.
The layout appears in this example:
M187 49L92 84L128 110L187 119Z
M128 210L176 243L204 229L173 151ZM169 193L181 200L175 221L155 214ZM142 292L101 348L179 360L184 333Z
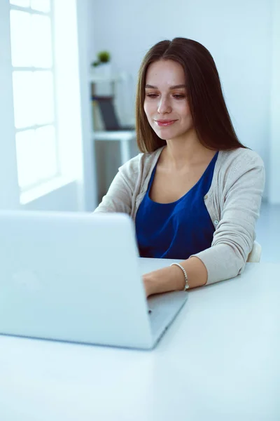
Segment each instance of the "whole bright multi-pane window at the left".
M18 183L21 192L60 175L52 0L10 0Z

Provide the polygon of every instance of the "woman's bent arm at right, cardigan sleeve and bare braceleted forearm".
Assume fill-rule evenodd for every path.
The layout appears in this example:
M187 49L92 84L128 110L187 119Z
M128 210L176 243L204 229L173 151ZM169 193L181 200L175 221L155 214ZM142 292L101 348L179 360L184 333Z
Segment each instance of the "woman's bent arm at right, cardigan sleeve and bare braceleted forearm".
M210 248L180 262L190 288L230 279L243 272L255 240L255 222L265 187L265 168L255 156L246 168L235 164L225 182L221 220ZM178 266L144 275L146 295L183 290L185 277Z

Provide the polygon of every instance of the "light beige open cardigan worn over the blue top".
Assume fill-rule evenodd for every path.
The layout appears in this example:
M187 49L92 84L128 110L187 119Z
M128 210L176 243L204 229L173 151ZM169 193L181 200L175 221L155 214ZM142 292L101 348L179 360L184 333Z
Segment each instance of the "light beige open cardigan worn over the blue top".
M123 212L135 221L162 147L139 154L119 168L94 212ZM255 222L265 187L265 167L251 149L220 151L204 203L216 231L211 247L195 254L207 267L207 283L230 279L244 270L255 240ZM200 229L197 221L197 229Z

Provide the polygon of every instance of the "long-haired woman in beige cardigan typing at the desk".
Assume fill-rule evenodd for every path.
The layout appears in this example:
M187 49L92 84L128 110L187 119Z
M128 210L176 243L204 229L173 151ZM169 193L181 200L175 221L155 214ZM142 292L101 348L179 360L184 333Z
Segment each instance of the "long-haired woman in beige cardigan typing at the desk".
M141 257L182 260L144 275L146 295L241 274L265 169L237 139L207 48L155 44L139 70L136 116L142 153L119 168L95 212L131 215Z

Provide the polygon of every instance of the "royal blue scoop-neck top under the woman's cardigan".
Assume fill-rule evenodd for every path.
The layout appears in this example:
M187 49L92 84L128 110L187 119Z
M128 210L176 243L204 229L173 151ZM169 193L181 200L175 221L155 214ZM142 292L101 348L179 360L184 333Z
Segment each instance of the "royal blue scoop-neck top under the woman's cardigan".
M215 231L204 203L211 186L218 152L202 177L183 197L172 203L157 203L149 197L155 168L135 218L141 258L186 260L211 247Z

